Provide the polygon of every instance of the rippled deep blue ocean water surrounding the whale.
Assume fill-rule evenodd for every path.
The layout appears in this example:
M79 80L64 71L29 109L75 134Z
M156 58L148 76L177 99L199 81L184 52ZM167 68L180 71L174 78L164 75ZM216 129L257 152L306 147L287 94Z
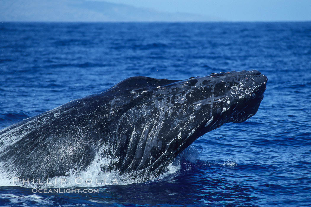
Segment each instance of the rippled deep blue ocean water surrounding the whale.
M198 138L162 178L98 193L2 184L1 206L311 205L311 22L0 23L0 48L0 129L136 75L268 77L256 115Z

